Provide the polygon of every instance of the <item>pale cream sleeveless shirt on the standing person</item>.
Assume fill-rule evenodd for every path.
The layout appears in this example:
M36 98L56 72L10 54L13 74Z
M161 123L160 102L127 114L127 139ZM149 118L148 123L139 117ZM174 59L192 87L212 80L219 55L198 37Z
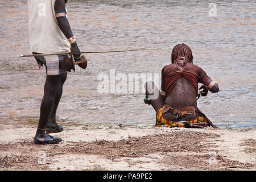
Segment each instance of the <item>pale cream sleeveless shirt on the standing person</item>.
M56 0L28 0L30 51L70 52L70 44L55 18Z

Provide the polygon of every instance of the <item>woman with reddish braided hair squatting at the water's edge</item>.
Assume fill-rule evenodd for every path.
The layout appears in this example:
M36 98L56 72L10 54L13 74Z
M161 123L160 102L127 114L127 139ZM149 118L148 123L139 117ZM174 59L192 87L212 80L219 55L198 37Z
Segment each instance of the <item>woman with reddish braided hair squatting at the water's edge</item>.
M218 84L193 64L191 49L186 44L177 44L172 49L172 64L162 69L161 92L154 82L145 85L145 101L156 111L156 126L217 128L197 107L198 83L203 84L202 96L207 96L208 90L219 90Z

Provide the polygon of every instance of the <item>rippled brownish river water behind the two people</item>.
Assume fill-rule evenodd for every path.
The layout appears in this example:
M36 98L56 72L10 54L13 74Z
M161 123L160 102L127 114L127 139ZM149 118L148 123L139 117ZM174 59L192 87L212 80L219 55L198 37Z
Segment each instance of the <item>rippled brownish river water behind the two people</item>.
M255 8L246 0L70 1L68 19L81 51L167 51L85 54L88 68L68 73L57 121L154 126L155 111L144 104L144 93L99 93L98 76L160 73L171 63L171 49L185 43L194 64L220 87L200 97L199 108L217 126L255 127ZM0 43L0 123L36 126L46 74L31 57L19 58L31 53L27 1L0 1Z

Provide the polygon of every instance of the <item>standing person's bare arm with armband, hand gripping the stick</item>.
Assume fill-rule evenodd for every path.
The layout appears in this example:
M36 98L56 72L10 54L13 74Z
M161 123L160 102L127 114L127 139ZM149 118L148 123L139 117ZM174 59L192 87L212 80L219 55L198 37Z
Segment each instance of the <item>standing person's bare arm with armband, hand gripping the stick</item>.
M65 7L65 0L56 0L55 2L55 15L60 27L60 30L63 32L67 39L73 38L73 33L66 17L66 7ZM76 59L79 59L81 53L79 47L77 46L76 42L71 43L71 54L75 56Z

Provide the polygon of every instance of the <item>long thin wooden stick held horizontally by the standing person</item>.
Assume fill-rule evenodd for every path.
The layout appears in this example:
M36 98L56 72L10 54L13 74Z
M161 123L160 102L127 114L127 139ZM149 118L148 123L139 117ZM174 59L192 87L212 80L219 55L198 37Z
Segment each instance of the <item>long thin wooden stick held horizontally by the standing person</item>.
M121 51L86 51L81 53L110 53L110 52L129 52L129 51L168 51L164 49L130 49ZM20 55L19 57L36 57L36 56L51 56L51 55L68 55L70 52L65 53L43 53L38 55Z

